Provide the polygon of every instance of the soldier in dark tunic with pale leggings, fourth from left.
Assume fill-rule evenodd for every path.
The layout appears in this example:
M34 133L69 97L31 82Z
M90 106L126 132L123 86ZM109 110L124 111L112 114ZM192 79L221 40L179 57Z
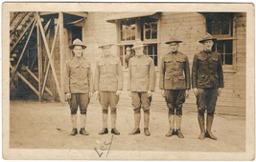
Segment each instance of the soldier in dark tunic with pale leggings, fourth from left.
M162 57L159 71L159 88L165 97L169 109L168 119L170 130L166 136L177 134L184 138L180 131L182 119L182 104L185 97L189 95L190 68L187 55L178 51L179 43L182 41L171 37L165 44L169 45L170 52ZM175 128L176 123L176 128Z

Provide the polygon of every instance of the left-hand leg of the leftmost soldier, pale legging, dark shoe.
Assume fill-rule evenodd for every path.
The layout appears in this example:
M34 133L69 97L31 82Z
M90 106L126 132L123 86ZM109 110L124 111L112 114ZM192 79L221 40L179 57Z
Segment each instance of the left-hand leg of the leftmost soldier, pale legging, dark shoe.
M71 111L71 124L73 128L71 135L76 135L78 133L78 130L77 130L78 99L77 99L76 93L71 93L69 106Z

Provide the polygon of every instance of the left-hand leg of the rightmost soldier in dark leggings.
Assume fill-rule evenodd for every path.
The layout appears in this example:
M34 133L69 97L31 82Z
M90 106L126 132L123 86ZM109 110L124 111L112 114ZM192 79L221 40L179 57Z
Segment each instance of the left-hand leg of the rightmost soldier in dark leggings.
M200 134L198 138L204 139L205 137L204 112L206 107L205 89L198 89L197 105L198 105L198 124L200 128Z

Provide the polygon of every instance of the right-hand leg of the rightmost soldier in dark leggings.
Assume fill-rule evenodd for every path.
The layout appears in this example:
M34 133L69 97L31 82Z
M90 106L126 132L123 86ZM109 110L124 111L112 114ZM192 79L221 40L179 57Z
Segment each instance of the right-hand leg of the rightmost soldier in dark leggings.
M214 112L216 107L216 102L218 98L218 89L209 89L207 92L208 100L206 103L207 118L206 118L206 137L217 140L217 137L212 133L212 125L214 120Z

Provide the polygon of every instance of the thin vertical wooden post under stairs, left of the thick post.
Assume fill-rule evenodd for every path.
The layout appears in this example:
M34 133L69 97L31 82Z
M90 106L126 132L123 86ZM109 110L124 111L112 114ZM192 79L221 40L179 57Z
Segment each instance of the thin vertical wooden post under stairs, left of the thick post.
M36 12L39 16L39 13ZM38 65L38 97L41 101L41 78L42 78L42 53L41 53L41 35L38 21L36 23L36 38L37 38L37 65Z

